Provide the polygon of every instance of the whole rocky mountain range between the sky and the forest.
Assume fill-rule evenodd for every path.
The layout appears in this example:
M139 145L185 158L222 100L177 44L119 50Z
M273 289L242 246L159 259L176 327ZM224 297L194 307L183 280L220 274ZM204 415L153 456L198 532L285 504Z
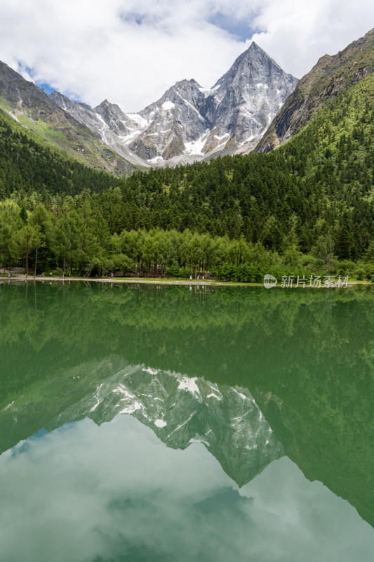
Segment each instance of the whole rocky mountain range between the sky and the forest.
M47 143L117 176L269 152L295 136L340 91L373 72L374 30L337 55L324 55L299 82L258 45L242 53L210 88L194 79L171 86L138 113L104 100L97 107L58 92L48 96L0 63L0 109Z

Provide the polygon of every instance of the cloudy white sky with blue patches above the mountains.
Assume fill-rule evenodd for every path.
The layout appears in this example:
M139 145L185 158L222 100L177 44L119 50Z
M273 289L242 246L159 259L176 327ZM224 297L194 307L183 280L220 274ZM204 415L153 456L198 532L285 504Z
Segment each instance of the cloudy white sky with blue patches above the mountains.
M90 105L211 87L255 40L300 78L374 26L373 0L0 0L0 60Z

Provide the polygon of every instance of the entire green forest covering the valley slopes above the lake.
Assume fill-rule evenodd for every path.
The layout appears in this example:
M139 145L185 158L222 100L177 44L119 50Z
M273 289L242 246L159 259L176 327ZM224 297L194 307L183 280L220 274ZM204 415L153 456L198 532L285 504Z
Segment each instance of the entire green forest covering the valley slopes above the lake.
M373 74L269 154L114 178L0 113L0 267L374 275Z

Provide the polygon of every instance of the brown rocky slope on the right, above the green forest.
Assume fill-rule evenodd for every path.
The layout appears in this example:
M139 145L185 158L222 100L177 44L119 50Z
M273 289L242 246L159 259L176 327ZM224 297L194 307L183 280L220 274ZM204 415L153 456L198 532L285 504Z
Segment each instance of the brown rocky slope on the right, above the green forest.
M373 72L374 29L337 55L321 57L296 86L256 147L269 152L295 136L342 89Z

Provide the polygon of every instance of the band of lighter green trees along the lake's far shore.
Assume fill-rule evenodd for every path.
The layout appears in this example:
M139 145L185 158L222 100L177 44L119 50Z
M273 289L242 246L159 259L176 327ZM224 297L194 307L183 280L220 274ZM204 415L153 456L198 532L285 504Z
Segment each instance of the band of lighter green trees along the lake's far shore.
M111 233L89 195L52 209L39 202L28 211L24 202L0 202L0 265L23 264L27 273L64 275L189 275L258 282L265 273L374 274L374 242L359 263L338 260L329 234L316 236L308 254L298 248L297 218L280 249L243 235L236 239L171 229L145 228Z

